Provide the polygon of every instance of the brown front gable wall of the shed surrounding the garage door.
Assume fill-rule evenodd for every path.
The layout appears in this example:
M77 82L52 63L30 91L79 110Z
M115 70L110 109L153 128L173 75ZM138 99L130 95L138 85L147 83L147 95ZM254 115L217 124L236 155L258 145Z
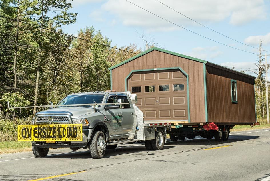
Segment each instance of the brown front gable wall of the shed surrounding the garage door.
M125 78L132 70L181 67L189 75L190 122L205 122L203 63L153 50L112 70L112 89L125 91Z

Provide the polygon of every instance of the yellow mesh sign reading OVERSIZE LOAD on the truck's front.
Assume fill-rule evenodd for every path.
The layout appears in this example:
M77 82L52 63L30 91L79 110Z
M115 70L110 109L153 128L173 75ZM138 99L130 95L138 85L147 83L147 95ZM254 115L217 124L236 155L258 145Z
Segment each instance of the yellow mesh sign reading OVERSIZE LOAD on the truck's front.
M18 125L18 141L83 141L81 124Z

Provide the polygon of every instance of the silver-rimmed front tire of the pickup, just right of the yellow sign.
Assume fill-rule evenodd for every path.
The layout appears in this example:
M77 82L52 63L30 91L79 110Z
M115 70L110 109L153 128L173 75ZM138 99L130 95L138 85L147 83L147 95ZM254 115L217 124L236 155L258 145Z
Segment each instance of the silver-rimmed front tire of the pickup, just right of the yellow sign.
M106 151L105 135L102 131L95 131L90 140L90 154L92 158L103 158Z

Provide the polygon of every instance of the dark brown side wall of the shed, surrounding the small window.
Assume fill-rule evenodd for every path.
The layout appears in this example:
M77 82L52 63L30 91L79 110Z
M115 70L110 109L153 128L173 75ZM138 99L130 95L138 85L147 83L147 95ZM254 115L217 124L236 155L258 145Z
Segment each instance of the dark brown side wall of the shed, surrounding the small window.
M231 79L237 81L237 101L232 103ZM254 79L206 65L208 121L256 122Z

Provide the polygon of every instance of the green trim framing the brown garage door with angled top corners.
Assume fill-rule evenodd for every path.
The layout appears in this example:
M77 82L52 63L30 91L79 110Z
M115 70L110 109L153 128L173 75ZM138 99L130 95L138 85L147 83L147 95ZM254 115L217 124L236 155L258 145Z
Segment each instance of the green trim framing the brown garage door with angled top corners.
M141 69L141 70L132 70L127 77L125 78L125 91L127 91L127 81L128 78L130 78L134 72L145 72L145 71L155 71L155 70L172 70L172 69L179 69L181 72L187 76L187 114L188 114L188 119L190 123L190 111L189 111L189 75L187 72L185 72L181 67L169 67L169 68L152 68L152 69Z

